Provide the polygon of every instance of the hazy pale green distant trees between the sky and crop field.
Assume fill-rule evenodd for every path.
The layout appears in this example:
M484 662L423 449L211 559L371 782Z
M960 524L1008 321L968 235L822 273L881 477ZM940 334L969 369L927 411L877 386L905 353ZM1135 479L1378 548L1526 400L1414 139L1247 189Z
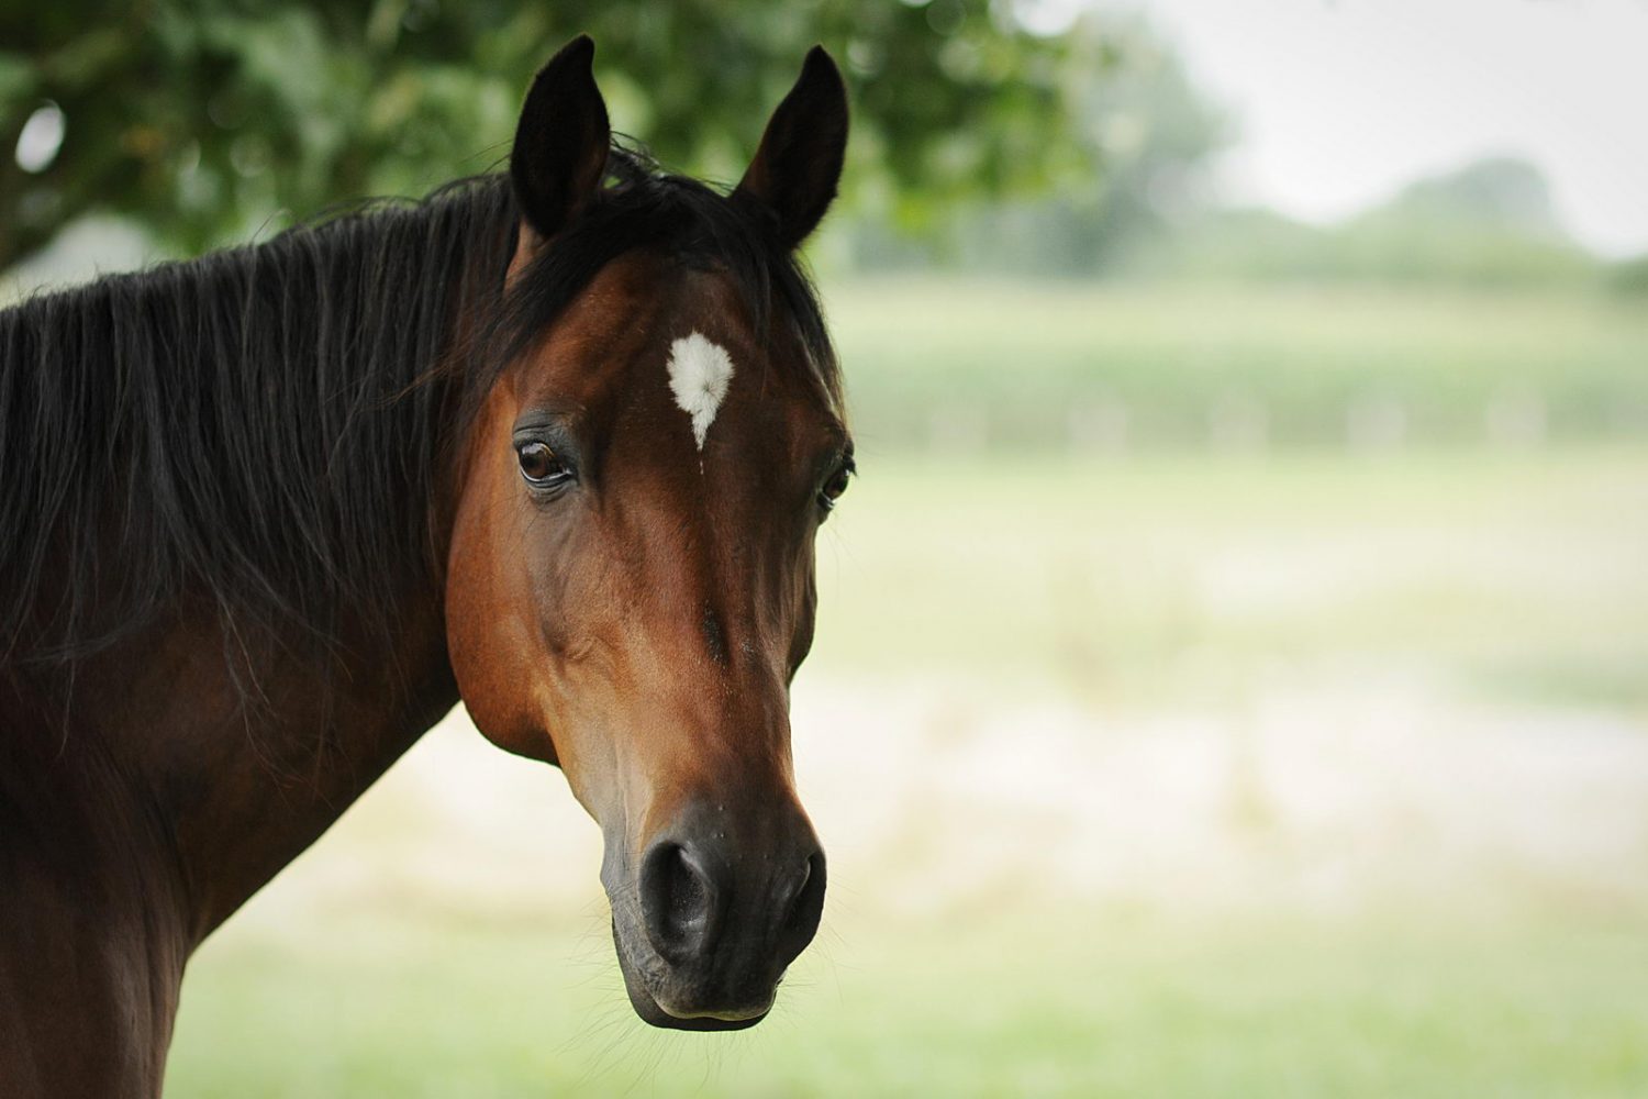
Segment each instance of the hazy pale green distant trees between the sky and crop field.
M1081 74L1073 132L1104 171L1051 194L959 203L921 236L860 222L860 269L1648 292L1648 260L1599 262L1562 231L1541 171L1513 158L1419 180L1330 226L1220 208L1208 170L1231 122L1149 21L1083 20L1068 48Z

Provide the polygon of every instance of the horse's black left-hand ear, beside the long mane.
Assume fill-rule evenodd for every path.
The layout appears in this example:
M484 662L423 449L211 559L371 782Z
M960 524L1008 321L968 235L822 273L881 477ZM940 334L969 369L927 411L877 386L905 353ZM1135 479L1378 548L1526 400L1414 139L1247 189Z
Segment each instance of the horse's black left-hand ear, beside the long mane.
M532 79L521 107L509 181L521 214L550 237L595 196L606 171L611 129L590 63L595 43L578 35Z

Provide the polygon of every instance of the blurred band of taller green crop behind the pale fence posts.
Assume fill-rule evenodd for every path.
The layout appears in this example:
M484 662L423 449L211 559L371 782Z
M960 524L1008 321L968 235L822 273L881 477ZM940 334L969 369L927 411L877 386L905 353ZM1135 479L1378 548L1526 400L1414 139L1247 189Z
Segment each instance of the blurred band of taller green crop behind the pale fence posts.
M1337 447L1389 407L1421 443L1475 445L1495 419L1515 433L1529 404L1557 438L1648 432L1648 311L1605 295L931 280L827 300L872 450L974 427L1060 450L1073 417L1116 410L1140 448L1252 417L1272 442Z

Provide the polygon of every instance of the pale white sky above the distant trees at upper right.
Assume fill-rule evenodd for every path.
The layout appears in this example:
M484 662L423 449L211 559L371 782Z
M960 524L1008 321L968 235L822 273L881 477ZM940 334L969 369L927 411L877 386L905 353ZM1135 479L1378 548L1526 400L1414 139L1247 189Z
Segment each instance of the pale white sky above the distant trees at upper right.
M1144 10L1236 120L1220 193L1309 221L1515 155L1605 255L1648 252L1648 0L1046 0Z

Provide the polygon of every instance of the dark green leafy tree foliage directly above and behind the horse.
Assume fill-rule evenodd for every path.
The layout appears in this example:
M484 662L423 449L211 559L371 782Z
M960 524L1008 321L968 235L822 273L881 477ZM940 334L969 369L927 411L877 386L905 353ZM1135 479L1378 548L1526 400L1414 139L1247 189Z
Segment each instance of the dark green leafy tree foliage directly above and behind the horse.
M1068 130L1066 41L1025 31L1002 2L12 3L0 270L92 211L199 250L277 213L494 168L531 74L580 31L615 124L714 178L742 173L814 41L852 87L854 181L906 219L1091 168ZM30 171L12 150L43 109L64 124L61 147Z

